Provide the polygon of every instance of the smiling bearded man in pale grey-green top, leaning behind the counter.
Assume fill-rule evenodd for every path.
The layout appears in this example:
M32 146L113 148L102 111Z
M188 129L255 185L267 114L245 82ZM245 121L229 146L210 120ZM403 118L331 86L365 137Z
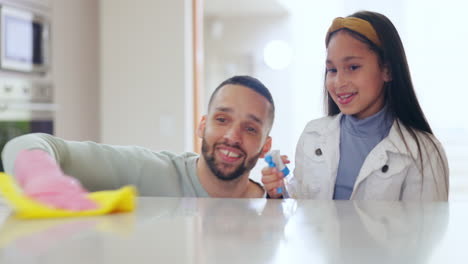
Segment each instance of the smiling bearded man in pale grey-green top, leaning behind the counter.
M133 184L142 196L264 197L264 189L249 179L249 173L270 150L274 108L260 81L234 76L213 92L199 124L201 156L29 134L8 142L2 159L5 171L14 175L21 150L41 149L89 191Z

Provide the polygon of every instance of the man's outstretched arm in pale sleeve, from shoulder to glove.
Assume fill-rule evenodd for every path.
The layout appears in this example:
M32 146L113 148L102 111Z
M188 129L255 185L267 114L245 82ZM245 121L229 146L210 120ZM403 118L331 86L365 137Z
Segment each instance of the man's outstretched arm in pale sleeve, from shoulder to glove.
M140 147L66 141L48 134L28 134L5 145L2 160L7 173L15 174L14 162L23 149L40 149L49 153L65 174L77 178L89 191L137 185L142 165L155 156Z

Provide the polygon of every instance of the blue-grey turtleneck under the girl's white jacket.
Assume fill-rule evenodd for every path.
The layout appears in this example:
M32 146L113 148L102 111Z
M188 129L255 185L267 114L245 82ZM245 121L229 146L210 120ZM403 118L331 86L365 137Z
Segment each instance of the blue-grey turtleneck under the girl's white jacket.
M354 183L369 152L387 137L393 119L384 107L364 119L343 115L340 120L340 162L336 176L334 200L349 200Z

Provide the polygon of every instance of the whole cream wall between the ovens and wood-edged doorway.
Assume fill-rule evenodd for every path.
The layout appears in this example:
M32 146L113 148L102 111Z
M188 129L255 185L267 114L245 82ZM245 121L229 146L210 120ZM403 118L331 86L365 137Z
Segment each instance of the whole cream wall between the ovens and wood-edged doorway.
M51 2L56 135L193 150L190 1Z

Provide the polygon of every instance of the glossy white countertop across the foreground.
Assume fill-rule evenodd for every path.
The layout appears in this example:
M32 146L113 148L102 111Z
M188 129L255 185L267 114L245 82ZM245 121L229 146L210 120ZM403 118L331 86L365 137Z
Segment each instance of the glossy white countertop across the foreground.
M468 203L140 198L134 213L19 220L0 263L468 263Z

